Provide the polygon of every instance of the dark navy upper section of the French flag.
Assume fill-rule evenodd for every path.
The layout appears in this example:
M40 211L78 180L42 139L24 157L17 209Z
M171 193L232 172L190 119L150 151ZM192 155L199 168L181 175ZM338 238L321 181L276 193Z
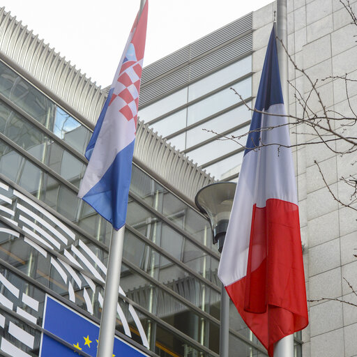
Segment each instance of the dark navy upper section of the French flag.
M264 112L274 104L284 104L284 99L282 98L278 52L276 48L275 29L273 26L271 37L268 42L268 48L266 49L257 99L255 100L255 109ZM250 133L248 135L244 155L261 144L261 113L253 113L252 123L250 123L249 130Z

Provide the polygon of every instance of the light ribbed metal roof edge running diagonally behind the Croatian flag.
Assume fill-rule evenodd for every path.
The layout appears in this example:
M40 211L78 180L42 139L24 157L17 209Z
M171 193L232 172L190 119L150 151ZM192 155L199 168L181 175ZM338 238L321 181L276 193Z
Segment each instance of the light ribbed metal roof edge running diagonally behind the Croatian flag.
M91 82L54 48L44 43L16 17L0 9L0 58L47 93L64 109L93 128L107 91ZM134 161L172 190L193 202L196 192L213 182L185 155L139 122Z

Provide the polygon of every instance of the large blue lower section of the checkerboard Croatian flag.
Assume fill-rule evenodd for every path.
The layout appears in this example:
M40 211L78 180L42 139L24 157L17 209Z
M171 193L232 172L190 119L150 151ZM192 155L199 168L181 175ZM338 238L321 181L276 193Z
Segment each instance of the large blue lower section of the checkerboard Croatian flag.
M102 179L82 198L115 229L120 229L126 222L134 144L135 140L119 151Z

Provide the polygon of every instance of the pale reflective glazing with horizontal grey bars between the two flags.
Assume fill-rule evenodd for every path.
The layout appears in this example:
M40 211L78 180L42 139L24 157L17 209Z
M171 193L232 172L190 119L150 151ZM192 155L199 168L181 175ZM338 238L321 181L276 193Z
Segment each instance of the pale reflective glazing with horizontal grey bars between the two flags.
M215 179L236 179L248 132L252 56L212 70L165 98L139 108L140 119ZM242 96L246 104L234 93ZM230 165L230 166L229 166Z

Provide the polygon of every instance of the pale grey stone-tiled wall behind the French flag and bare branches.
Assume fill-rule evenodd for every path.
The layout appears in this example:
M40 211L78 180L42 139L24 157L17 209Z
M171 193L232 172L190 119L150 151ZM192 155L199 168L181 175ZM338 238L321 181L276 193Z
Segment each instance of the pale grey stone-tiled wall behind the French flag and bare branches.
M351 1L357 10L357 2ZM273 24L274 4L253 13L253 94L257 93L268 36ZM344 75L357 79L357 26L338 0L288 0L288 47L297 65L312 79ZM289 63L289 79L298 91L307 96L307 78ZM344 116L356 116L349 109L344 82L326 79L318 82L318 91L326 109ZM349 99L357 110L357 85L349 83ZM289 111L301 116L295 90L289 89ZM311 108L317 114L322 107L312 96ZM357 137L357 126L335 129L344 135ZM343 131L341 131L343 130ZM348 202L353 190L340 177L356 175L356 153L338 155L324 144L309 144L317 140L310 128L291 126L291 142L296 164L296 181L301 215L301 238L305 245L305 279L307 298L344 298L357 303L347 279L357 289L357 211L346 208L333 199L319 169L331 190L342 202ZM344 142L333 142L332 149L346 150ZM355 176L356 177L356 176ZM357 208L357 205L355 205ZM308 303L310 324L303 331L303 357L357 356L357 307L337 301Z

